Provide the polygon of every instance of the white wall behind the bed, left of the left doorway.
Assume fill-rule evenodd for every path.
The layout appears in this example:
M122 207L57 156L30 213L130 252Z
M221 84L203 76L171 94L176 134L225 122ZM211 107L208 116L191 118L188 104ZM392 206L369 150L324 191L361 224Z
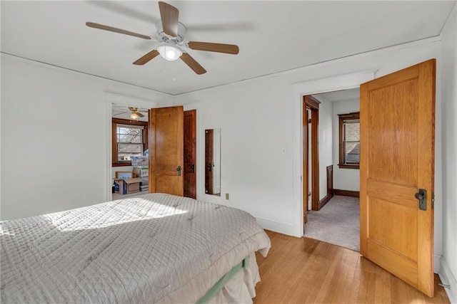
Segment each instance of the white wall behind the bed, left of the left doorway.
M1 219L106 201L111 112L104 91L167 95L1 56Z

